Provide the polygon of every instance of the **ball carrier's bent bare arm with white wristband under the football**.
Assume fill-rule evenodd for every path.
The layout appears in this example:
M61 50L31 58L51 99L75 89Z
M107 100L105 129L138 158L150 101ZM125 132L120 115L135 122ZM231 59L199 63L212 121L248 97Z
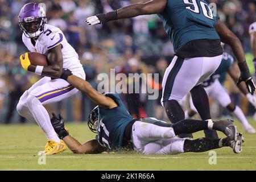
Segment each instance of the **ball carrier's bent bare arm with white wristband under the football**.
M49 65L47 67L42 67L43 69L40 71L39 75L48 76L52 78L59 78L63 68L61 44L48 50L47 59ZM27 71L36 72L37 67L38 66L35 65L28 65Z

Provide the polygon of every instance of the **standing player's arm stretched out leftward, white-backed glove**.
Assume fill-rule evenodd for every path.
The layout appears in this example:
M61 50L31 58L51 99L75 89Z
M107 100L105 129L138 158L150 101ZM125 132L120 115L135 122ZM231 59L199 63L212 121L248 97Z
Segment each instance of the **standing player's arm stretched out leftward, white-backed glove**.
M104 24L106 22L133 18L139 15L150 15L163 12L166 7L167 0L151 0L145 3L136 3L134 5L125 6L121 9L108 12L106 14L97 14L96 16L90 16L85 20L85 23L89 25Z

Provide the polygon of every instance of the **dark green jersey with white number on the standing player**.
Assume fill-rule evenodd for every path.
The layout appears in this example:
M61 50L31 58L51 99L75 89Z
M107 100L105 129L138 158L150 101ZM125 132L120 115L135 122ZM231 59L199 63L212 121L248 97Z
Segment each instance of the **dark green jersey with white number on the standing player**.
M175 52L192 40L220 39L215 30L218 15L214 16L206 1L168 0L159 17Z

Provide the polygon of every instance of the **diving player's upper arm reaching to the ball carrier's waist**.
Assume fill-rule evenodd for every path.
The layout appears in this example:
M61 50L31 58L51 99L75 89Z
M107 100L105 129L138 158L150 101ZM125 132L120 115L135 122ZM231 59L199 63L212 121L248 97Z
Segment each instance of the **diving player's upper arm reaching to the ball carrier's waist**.
M106 97L103 94L99 93L92 87L92 85L89 84L88 81L72 75L72 72L69 71L69 69L63 70L61 78L67 80L70 84L75 86L75 88L86 94L86 96L88 96L90 100L93 101L96 105L106 109L112 109L114 107L117 107L117 104L112 98Z

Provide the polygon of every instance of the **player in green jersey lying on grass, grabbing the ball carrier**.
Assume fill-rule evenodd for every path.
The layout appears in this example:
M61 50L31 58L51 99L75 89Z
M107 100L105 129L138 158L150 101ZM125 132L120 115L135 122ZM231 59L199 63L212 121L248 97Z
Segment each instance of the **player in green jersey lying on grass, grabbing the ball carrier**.
M53 114L53 128L68 148L78 154L98 154L107 150L134 149L142 154L179 154L183 152L204 152L221 147L232 147L241 152L241 135L230 120L213 122L183 120L168 124L155 118L134 119L128 113L117 94L101 94L89 82L63 71L61 78L86 94L98 106L89 115L88 125L97 133L96 139L79 143L65 130L64 119ZM177 138L181 133L195 133L201 130L222 131L227 137L222 139L200 138L187 140Z

